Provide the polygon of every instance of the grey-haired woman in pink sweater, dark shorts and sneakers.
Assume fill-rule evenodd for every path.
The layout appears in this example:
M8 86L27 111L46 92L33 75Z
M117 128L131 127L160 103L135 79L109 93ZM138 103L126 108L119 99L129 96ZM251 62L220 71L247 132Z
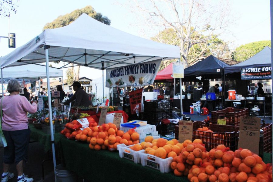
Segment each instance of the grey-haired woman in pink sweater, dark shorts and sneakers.
M24 175L23 168L27 160L30 134L27 112L35 113L37 102L34 101L31 105L24 96L18 95L20 87L17 80L11 79L8 82L10 95L0 100L3 110L2 130L8 144L7 147L4 147L2 182L14 177L14 174L9 172L12 163L16 164L17 181L33 181L33 178Z

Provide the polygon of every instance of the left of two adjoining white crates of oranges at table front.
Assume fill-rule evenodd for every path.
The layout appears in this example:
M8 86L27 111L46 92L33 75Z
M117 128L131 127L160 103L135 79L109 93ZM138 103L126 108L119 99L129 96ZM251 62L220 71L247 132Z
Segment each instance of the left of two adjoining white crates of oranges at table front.
M117 147L117 150L119 151L120 158L132 160L136 164L141 163L139 153L144 153L145 150L134 151L129 148L134 145L126 146L125 144L122 143L122 144L117 145L116 147Z

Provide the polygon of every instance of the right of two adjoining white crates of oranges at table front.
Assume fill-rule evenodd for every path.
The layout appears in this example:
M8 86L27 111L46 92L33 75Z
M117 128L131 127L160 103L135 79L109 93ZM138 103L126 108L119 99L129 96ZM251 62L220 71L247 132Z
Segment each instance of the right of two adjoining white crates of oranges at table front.
M173 157L161 159L147 153L139 153L139 156L142 166L148 166L153 169L160 170L161 173L170 172L170 163L173 161Z

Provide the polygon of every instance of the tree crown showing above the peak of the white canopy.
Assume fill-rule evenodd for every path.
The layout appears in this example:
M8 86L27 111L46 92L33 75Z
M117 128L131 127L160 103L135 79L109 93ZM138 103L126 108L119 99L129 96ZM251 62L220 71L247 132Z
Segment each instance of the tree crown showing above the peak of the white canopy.
M53 20L53 22L47 23L44 26L44 29L56 29L69 25L83 13L86 13L93 19L96 19L106 25L111 24L111 20L107 16L103 16L101 13L97 13L92 6L86 6L82 9L76 9L66 15L60 15L57 19Z

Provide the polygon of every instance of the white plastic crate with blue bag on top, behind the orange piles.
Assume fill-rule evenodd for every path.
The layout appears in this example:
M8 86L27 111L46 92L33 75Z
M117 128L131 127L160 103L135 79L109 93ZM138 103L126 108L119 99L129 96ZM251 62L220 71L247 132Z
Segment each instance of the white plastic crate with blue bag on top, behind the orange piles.
M124 132L127 132L129 131L130 129L132 128L129 128L129 127L123 127L123 126L120 126L120 130L124 131ZM150 125L150 124L147 124L145 126L140 126L140 127L137 127L136 129L134 129L137 133L139 133L139 138L140 140L143 140L145 139L146 136L155 136L155 135L158 135L158 132L157 132L157 128L155 125ZM142 142L143 142L142 141ZM141 141L140 141L141 142Z

